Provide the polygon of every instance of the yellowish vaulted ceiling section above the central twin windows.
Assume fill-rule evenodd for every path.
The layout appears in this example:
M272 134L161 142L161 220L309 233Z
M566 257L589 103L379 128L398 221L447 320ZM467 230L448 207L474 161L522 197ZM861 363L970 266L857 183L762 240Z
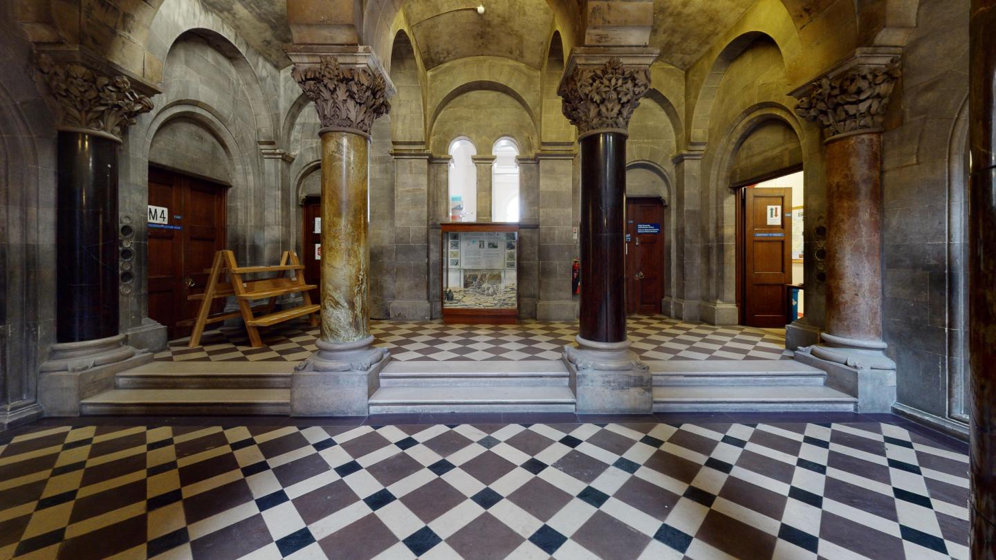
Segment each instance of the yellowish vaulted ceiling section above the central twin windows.
M539 69L553 31L547 0L409 0L402 9L426 69L476 56Z

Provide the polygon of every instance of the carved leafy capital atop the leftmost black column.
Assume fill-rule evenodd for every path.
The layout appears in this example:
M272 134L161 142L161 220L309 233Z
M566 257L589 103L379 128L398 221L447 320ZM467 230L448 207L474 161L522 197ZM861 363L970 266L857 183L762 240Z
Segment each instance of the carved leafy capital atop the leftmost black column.
M58 104L59 129L121 140L135 116L152 110L152 102L124 76L105 76L76 63L38 57L38 70Z

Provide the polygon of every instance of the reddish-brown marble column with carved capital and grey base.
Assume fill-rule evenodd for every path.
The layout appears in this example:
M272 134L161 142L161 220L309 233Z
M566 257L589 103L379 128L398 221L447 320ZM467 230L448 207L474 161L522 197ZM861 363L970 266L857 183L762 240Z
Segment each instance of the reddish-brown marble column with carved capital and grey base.
M881 132L899 76L894 54L860 53L797 94L796 113L823 125L828 200L826 330L797 355L858 397L863 413L895 402L895 363L881 340Z

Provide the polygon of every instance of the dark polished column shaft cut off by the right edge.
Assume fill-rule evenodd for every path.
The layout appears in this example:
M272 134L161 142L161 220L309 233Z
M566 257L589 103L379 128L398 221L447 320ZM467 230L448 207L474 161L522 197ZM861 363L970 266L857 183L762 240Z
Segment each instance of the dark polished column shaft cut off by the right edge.
M972 0L968 226L972 558L996 558L996 0Z

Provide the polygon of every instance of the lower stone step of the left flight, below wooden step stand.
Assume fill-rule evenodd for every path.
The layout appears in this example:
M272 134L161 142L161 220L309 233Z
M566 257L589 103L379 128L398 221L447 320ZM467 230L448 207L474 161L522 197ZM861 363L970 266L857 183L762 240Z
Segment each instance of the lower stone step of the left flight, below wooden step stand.
M80 403L84 416L287 416L288 389L116 389Z

